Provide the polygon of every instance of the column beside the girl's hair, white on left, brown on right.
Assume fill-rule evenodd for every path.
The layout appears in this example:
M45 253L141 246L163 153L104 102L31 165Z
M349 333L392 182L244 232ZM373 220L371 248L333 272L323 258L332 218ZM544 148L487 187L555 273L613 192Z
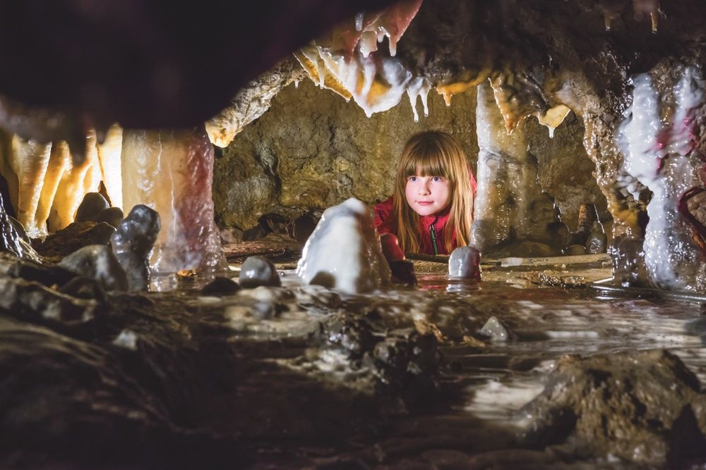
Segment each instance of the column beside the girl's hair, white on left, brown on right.
M478 86L476 127L478 187L470 245L484 252L513 233L529 232L530 204L542 189L527 152L524 124L508 135L487 81Z

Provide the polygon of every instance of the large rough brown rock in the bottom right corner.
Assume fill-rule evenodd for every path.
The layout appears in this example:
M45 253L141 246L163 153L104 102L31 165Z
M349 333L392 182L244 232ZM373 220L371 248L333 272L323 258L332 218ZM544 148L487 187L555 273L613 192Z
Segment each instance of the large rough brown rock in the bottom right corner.
M706 396L666 350L558 359L544 392L521 414L526 443L564 443L580 454L680 466L706 454Z

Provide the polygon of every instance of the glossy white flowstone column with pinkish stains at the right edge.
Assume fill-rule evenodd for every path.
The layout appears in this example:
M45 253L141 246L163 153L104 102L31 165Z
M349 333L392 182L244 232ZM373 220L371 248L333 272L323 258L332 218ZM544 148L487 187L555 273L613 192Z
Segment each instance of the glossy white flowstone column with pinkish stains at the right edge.
M698 173L703 162L692 150L694 113L703 104L704 82L695 69L685 68L681 80L662 94L649 74L638 75L633 83L633 104L617 138L626 171L652 191L645 265L658 287L699 290L704 259L677 208L681 194L702 184ZM673 109L661 106L669 102Z

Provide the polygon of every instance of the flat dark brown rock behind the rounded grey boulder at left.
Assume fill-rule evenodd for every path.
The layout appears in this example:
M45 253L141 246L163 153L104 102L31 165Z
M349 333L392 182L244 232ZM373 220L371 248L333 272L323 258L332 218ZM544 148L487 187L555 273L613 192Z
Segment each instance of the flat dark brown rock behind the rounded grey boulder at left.
M107 223L73 222L49 235L37 246L37 252L50 261L58 262L76 250L88 245L107 245L115 228Z

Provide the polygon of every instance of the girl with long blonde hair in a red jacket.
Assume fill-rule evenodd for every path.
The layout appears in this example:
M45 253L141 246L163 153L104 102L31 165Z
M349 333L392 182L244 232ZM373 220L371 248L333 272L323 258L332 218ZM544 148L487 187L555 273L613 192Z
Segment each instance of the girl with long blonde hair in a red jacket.
M376 204L378 232L397 236L405 252L450 254L468 245L476 182L461 147L446 132L407 140L395 192Z

